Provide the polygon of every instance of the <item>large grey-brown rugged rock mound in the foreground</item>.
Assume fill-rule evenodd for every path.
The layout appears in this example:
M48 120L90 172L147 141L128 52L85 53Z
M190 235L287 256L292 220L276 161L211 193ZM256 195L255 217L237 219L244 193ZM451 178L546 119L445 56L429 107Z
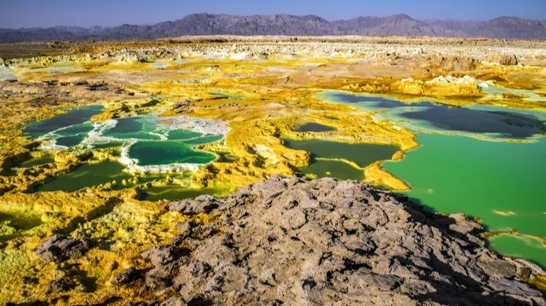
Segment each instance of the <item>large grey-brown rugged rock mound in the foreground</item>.
M544 271L491 252L475 221L367 184L275 176L167 207L219 221L142 254L165 303L546 305L524 282Z

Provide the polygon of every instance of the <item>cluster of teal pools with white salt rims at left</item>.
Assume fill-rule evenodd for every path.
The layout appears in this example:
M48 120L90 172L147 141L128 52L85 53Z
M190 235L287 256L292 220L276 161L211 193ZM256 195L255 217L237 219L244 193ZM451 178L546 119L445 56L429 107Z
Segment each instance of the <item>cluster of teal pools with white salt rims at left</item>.
M90 117L101 111L100 105L87 105L40 122L29 122L25 134L44 140L45 148L55 150L76 146L82 149L121 147L120 161L126 166L157 172L213 161L214 154L193 147L221 140L228 131L221 122L184 116L148 115L92 123ZM198 131L182 126L195 126ZM183 166L184 163L191 166Z

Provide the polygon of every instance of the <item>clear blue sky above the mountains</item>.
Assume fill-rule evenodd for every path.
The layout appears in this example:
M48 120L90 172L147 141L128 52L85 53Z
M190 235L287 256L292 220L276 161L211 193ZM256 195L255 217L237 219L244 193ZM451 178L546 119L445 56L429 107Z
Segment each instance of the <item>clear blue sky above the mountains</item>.
M397 13L416 19L546 20L546 0L0 0L0 28L153 24L205 12L314 14L327 20Z

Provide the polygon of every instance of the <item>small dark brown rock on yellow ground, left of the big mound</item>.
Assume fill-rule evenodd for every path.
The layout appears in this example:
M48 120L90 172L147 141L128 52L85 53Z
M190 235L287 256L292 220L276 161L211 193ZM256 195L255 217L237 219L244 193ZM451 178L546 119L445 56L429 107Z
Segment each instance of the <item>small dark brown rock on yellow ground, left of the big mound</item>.
M94 245L89 239L73 239L56 234L36 247L36 254L44 261L61 263L72 258L79 258Z

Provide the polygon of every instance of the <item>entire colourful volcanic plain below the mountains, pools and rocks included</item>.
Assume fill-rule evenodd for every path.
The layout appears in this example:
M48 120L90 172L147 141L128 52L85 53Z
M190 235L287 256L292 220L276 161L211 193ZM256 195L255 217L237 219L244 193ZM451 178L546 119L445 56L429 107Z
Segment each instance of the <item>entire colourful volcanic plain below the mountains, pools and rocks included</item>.
M546 305L546 42L0 44L0 302Z

